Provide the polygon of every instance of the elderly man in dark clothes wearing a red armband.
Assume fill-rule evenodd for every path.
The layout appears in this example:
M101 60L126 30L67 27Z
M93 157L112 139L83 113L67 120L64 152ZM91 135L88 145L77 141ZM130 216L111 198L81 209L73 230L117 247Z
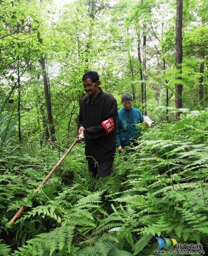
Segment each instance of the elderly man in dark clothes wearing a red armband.
M96 71L82 77L85 96L79 109L77 137L85 139L85 155L89 172L105 177L111 172L116 151L117 102L113 95L102 91Z

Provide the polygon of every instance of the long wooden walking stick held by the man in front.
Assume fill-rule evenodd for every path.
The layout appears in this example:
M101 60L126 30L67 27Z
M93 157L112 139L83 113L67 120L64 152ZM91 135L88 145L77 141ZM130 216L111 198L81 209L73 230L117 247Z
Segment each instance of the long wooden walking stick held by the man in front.
M59 167L59 165L61 164L61 162L64 160L64 158L69 154L69 152L72 150L72 147L74 147L74 145L79 141L78 138L76 138L74 140L74 142L72 143L71 147L69 147L69 149L67 150L67 152L62 156L62 158L59 160L59 162L57 162L57 164L52 168L52 170L49 172L49 174L45 177L45 180L43 180L41 182L41 184L36 188L35 190L35 195L38 193L38 191L40 190L40 188L42 188L42 185L44 185L47 180L51 177L51 175L54 173L54 171L57 169L57 167ZM34 195L34 196L35 196ZM32 198L30 198L30 201L32 201L32 199L34 198L34 196ZM17 213L14 215L14 217L10 220L10 223L14 224L16 218L20 217L20 215L22 214L22 212L25 210L26 206L22 205L21 208L17 211Z

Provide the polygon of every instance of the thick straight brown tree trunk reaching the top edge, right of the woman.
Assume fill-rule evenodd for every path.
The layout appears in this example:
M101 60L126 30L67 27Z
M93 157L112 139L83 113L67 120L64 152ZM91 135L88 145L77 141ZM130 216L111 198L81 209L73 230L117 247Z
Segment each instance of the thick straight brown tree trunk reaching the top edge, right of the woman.
M183 16L183 0L176 0L176 69L180 70L176 75L176 108L182 108L182 89L181 73L182 73L182 61L183 61L183 46L182 46L182 16ZM176 113L176 120L179 119L181 112Z

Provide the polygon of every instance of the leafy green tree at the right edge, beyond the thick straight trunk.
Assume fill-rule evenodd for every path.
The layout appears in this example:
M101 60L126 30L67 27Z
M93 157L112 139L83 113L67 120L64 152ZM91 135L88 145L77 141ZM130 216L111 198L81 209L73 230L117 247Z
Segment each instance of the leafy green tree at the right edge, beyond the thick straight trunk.
M191 66L198 79L196 82L193 76L189 76L185 81L185 89L186 94L190 93L193 90L193 84L197 84L192 101L201 106L206 99L207 9L208 3L204 0L198 0L197 5L193 0L183 2L183 20L186 21L183 24L183 30L186 31L183 35L183 62L186 60L190 62L193 59Z

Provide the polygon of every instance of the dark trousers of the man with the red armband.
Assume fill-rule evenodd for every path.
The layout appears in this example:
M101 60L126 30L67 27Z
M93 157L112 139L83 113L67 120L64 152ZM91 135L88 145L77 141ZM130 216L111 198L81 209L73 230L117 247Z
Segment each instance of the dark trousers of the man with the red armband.
M98 175L98 178L99 177L103 178L110 174L114 159L109 162L98 163L97 165L95 165L94 162L90 162L90 161L87 161L87 162L88 162L89 172L92 172L92 175L94 175L94 177Z

